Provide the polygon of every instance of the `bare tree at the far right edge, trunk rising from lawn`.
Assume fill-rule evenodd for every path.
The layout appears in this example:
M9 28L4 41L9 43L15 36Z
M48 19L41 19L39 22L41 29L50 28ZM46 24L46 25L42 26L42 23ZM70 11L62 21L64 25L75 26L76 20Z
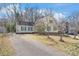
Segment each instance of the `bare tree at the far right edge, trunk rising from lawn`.
M70 28L73 28L74 39L77 39L76 36L79 31L79 12L73 12L71 16L69 16L69 24Z

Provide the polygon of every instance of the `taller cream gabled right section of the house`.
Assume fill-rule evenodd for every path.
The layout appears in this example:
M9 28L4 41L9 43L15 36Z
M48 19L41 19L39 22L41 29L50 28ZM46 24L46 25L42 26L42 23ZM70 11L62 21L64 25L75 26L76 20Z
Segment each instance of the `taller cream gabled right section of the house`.
M52 16L43 17L36 21L37 24L39 22L45 23L45 25L47 27L45 29L45 32L49 32L49 33L58 32L57 21Z

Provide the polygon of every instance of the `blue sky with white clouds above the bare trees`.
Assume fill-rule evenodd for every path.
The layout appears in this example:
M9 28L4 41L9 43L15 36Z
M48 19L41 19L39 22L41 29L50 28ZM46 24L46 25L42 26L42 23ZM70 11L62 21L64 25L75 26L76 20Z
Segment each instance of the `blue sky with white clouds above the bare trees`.
M38 8L38 9L52 9L55 13L55 16L69 16L73 12L79 11L79 4L78 3L21 3L18 4L19 7L24 10L25 7L31 7L31 8ZM0 7L2 7L2 12L0 12L0 17L3 16L2 13L5 12L6 8L12 8L11 4L0 4Z

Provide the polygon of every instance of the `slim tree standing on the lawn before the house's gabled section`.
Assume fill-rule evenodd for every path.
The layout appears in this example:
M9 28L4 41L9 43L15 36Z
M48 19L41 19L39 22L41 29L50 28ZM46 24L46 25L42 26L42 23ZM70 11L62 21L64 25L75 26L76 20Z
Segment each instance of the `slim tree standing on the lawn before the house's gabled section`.
M53 13L51 9L45 9L44 11L44 17L46 17L46 29L47 29L47 36L49 37L49 28L50 28L50 24L53 23L53 21L55 20L53 17ZM52 18L52 19L51 19Z

